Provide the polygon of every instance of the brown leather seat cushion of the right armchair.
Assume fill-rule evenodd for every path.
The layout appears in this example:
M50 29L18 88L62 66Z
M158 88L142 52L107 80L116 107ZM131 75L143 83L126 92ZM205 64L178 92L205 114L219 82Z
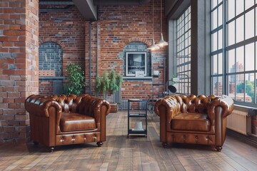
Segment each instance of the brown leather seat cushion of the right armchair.
M171 129L209 131L210 121L207 114L181 113L171 120Z

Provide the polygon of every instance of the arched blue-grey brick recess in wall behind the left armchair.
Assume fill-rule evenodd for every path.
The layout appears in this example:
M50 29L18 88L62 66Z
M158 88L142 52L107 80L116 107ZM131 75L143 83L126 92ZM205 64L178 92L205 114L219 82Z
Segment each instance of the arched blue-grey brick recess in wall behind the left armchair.
M58 43L39 46L39 71L55 71L55 76L63 76L63 51Z

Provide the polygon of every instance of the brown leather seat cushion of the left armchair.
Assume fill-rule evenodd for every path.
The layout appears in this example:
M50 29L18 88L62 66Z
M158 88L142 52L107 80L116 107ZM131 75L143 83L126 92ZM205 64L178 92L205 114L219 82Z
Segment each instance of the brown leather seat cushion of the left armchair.
M96 121L88 115L79 113L62 113L60 120L62 132L74 130L93 130L96 129Z

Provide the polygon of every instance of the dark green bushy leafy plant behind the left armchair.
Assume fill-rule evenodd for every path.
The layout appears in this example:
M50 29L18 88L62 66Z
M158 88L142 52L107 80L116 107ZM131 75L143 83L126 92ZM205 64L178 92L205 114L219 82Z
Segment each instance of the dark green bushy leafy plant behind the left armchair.
M82 71L81 66L75 63L69 63L66 71L68 73L67 80L69 82L68 94L81 94L85 87L84 71Z

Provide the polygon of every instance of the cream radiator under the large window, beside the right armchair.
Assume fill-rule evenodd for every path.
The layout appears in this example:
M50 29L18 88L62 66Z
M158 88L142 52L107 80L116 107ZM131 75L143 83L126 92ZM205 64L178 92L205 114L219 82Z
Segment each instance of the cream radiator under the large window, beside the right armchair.
M233 112L227 117L226 128L244 135L251 133L251 116L248 115L248 109L234 106Z

